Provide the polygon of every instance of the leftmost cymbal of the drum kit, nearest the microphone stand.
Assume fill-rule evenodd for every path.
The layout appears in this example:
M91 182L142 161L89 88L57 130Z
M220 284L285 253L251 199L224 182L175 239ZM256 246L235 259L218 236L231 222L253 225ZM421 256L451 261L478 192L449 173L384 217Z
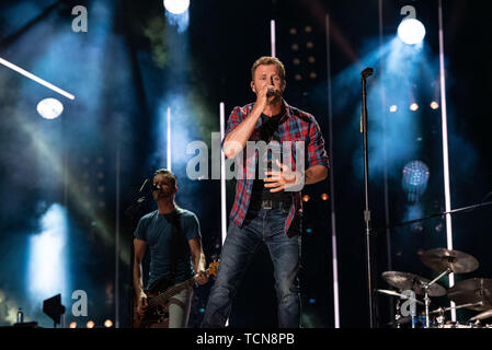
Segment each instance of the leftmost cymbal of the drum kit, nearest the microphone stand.
M398 288L400 290L412 290L419 295L424 295L425 291L423 284L431 282L426 278L399 271L386 271L382 272L382 278L388 284ZM446 295L446 290L438 283L434 283L428 289L430 296L443 296Z

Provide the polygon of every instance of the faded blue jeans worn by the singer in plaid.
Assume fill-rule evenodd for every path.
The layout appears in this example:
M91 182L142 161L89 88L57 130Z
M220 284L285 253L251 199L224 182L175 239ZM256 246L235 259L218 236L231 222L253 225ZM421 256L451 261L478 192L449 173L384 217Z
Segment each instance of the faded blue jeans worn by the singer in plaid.
M249 210L242 228L229 223L217 279L210 291L203 328L224 327L237 287L259 245L264 242L273 261L278 302L278 326L300 326L299 260L300 219L284 233L288 212L284 209Z

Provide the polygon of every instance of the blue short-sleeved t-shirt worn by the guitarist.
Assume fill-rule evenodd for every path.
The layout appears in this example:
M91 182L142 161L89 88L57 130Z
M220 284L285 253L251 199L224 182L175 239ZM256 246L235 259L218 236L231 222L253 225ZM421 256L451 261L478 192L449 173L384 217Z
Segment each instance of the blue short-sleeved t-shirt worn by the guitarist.
M147 289L152 289L161 279L171 278L172 236L175 235L175 279L182 282L194 275L188 241L201 237L199 223L196 215L176 207L169 214L160 214L159 210L144 215L135 230L135 237L147 242L150 250L150 269Z

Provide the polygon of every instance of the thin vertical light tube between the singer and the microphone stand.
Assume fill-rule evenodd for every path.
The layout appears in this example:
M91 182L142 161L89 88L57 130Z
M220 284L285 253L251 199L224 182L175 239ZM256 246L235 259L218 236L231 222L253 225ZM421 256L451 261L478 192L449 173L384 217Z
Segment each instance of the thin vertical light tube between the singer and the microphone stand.
M331 200L331 243L333 259L333 316L335 328L340 328L340 299L339 299L339 259L336 254L336 221L335 221L335 191L333 171L333 110L331 96L331 61L330 61L330 15L325 15L327 27L327 75L328 75L328 120L329 120L329 153L330 153L330 200Z

